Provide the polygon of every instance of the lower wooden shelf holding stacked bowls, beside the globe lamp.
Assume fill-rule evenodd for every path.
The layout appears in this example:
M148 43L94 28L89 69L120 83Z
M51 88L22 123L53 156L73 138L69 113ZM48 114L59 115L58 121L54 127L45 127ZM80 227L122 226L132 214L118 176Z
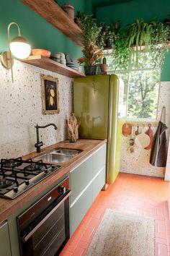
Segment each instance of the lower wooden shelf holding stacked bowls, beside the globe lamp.
M53 59L43 57L41 55L29 56L27 59L19 59L22 62L31 64L42 69L50 70L58 74L63 74L66 77L85 77L85 74L78 72L70 67L66 67Z

